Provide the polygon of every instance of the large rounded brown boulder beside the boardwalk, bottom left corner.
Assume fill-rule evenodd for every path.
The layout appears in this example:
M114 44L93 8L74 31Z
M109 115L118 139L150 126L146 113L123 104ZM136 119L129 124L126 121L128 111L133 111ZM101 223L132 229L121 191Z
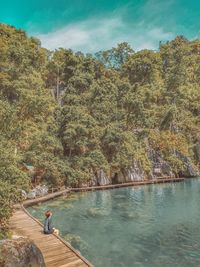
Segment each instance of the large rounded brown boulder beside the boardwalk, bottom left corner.
M0 267L45 267L38 247L29 239L16 237L0 241Z

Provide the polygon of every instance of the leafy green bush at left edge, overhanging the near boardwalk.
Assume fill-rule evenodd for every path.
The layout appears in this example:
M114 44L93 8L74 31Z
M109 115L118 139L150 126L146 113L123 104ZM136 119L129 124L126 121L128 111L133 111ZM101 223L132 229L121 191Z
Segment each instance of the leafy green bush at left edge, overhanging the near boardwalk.
M7 221L14 203L21 201L21 190L27 190L30 179L19 168L15 145L0 136L0 238L7 235Z

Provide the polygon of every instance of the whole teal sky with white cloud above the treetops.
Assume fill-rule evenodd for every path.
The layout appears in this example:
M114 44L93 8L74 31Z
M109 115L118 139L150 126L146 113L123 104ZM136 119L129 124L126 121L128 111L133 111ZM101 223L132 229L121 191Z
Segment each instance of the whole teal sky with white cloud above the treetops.
M0 22L51 50L157 49L177 35L200 38L200 0L0 0Z

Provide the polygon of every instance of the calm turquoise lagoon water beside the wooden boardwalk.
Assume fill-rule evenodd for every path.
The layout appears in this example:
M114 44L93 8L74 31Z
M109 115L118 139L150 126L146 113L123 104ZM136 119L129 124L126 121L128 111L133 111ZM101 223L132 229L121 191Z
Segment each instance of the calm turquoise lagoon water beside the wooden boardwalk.
M76 193L45 210L95 267L200 266L200 179Z

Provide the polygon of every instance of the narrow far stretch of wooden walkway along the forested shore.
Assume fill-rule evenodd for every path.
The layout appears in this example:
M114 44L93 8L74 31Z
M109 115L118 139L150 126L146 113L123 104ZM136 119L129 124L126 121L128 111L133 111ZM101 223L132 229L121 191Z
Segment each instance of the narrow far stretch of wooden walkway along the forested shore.
M128 183L119 183L119 184L111 184L111 185L103 185L103 186L91 186L91 187L80 187L80 188L67 188L65 190L50 193L43 197L38 197L30 200L23 201L22 205L24 207L33 206L38 203L42 203L51 199L54 199L59 196L63 196L70 192L84 192L84 191L95 191L95 190L106 190L106 189L114 189L114 188L121 188L121 187L129 187L129 186L138 186L138 185L149 185L149 184L160 184L160 183L172 183L172 182L181 182L185 178L158 178L146 181L134 181ZM15 204L14 208L18 209L21 207L21 204Z

